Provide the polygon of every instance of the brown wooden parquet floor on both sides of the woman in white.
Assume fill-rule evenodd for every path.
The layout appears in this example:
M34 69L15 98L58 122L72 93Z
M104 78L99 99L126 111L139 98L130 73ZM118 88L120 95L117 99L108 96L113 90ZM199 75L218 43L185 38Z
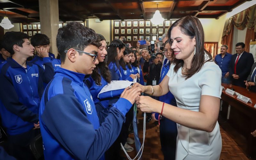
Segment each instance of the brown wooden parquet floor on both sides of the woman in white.
M139 137L140 142L142 142L143 137L143 117L141 116L141 112L139 111L138 119L140 123L138 124ZM222 137L222 150L220 154L220 160L252 160L246 157L243 153L243 148L246 144L243 141L243 137L239 137L239 141L236 139L237 136L241 136L236 131L228 125L228 123L219 117L218 120L220 124L220 133ZM232 134L228 135L227 132L232 132ZM129 135L133 138L133 134ZM236 143L236 141L238 144ZM135 148L135 145L131 145ZM125 154L121 150L120 154L124 157ZM136 151L129 152L129 156L133 159L136 156ZM145 136L145 144L143 150L143 160L163 160L164 156L161 152L161 145L159 139L159 125L156 125L153 120L146 124L146 136ZM127 158L128 159L128 158Z

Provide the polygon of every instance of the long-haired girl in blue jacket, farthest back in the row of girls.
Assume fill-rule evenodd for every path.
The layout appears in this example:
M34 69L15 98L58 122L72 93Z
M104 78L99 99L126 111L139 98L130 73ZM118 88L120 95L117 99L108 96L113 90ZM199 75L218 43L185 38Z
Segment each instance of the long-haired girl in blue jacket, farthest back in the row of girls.
M137 54L139 54L137 50L132 51L132 56L131 56L132 58L130 61L132 64L132 74L137 75L138 77L137 82L140 83L141 85L144 85L143 74L140 67L140 62L138 61Z

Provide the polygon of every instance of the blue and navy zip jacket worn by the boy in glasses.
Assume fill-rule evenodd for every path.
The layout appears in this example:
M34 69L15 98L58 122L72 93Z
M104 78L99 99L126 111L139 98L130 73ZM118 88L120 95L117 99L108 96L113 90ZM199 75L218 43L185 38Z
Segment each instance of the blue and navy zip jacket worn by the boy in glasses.
M57 68L39 110L45 159L104 159L132 104L120 98L100 126L85 75Z

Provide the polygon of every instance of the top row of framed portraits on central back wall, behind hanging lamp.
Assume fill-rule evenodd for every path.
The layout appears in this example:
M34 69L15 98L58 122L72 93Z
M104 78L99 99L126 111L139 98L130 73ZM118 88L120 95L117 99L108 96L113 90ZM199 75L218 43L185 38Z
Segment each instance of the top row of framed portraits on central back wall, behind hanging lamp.
M176 20L164 20L163 23L159 24L159 27L169 27L173 22ZM171 23L172 22L172 23ZM124 21L114 21L114 27L151 27L151 26L157 26L153 23L151 23L150 20L124 20Z

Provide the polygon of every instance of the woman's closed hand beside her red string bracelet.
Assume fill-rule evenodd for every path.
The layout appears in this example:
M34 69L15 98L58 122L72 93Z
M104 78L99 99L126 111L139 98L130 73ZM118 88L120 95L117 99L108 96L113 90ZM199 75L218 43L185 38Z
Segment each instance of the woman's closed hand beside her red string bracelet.
M155 100L149 96L138 96L135 98L137 107L140 108L142 112L158 112L159 108L161 109L163 102Z

